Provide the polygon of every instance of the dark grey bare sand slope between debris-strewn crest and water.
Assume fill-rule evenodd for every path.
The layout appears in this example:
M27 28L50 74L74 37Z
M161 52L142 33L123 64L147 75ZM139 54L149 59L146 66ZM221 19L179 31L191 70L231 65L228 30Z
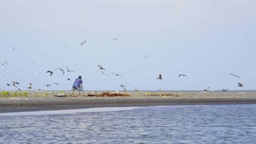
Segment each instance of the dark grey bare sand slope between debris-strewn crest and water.
M49 111L68 109L88 109L92 107L133 107L133 106L164 106L164 105L227 105L227 104L256 104L256 98L200 98L200 99L121 99L121 100L65 100L65 101L20 101L19 103L0 104L0 113Z

